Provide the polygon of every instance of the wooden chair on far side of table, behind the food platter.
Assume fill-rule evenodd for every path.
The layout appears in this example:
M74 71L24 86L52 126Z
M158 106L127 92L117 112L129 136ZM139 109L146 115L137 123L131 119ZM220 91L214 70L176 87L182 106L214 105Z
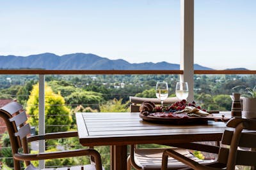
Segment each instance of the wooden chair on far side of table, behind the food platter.
M155 98L144 98L144 97L133 97L130 96L131 101L131 112L139 112L140 111L140 105L144 101L151 101L155 104L161 104L161 101L159 99ZM179 101L177 97L169 97L168 99L164 100L164 104L172 104L176 101ZM166 144L169 145L169 144ZM192 146L193 145L193 146ZM182 143L182 144L170 144L170 146L184 146L185 148L198 148L197 144L190 144L190 143ZM131 145L130 148L130 155L127 158L127 170L131 170L131 166L134 167L137 170L140 169L150 169L150 170L160 170L161 169L161 162L162 162L162 155L164 150L166 148L147 148L147 149L139 149L136 147L136 145ZM175 148L177 152L180 154L188 157L189 159L193 159L197 162L200 162L202 164L212 162L212 160L200 160L196 158L193 154L189 152L189 150L182 149L182 148ZM179 162L175 159L169 159L168 160L168 169L180 169L183 167L188 167L182 162Z

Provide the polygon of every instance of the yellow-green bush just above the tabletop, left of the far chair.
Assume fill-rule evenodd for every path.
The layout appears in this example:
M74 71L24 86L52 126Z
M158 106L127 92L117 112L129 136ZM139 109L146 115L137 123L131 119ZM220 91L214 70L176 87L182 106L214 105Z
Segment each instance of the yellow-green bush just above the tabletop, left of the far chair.
M106 104L100 105L100 112L127 112L128 106L122 104L122 99L113 99L108 101Z

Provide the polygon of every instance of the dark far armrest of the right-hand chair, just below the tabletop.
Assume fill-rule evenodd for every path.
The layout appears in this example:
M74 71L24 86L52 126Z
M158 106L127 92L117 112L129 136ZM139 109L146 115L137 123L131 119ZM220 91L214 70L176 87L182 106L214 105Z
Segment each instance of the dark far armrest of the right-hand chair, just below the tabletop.
M212 145L204 145L201 143L165 143L163 145L166 146L175 146L178 148L184 148L189 150L198 150L202 152L209 152L209 153L219 153L220 147L219 146L212 146Z

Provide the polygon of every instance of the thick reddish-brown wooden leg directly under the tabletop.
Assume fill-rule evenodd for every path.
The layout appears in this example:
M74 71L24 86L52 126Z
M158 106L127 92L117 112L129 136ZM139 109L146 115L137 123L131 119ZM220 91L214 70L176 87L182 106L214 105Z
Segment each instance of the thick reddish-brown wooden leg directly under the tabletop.
M127 169L127 145L111 146L111 169Z

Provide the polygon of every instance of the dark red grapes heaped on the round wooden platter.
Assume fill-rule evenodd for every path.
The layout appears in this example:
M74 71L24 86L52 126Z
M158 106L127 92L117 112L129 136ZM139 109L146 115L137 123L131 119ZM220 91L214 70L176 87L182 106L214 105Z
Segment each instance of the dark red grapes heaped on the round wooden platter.
M179 111L179 110L184 110L186 108L186 106L193 106L193 107L201 110L200 106L196 106L195 101L193 101L192 103L188 103L186 100L182 100L180 102L177 101L170 106L156 106L154 108L154 111L155 112L175 112L175 111ZM202 110L206 111L204 109L202 109Z

